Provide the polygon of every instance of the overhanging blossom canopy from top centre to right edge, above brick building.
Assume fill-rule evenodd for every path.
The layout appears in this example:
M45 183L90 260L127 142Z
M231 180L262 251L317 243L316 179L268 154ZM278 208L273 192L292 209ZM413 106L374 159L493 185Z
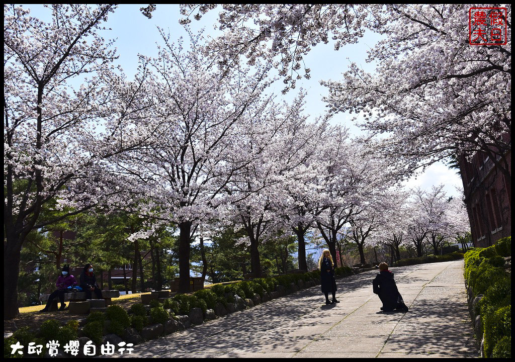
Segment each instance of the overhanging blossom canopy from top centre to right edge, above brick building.
M332 39L339 49L358 42L365 30L377 32L385 40L370 51L375 73L352 64L343 80L323 82L332 112L362 112L361 126L385 137L378 152L407 170L484 151L510 181L511 5L503 5L506 44L485 46L468 42L472 6L223 5L218 27L225 32L211 41L210 51L222 55L222 66L242 57L273 60L286 91L301 78L303 56L312 47ZM181 22L214 8L183 4ZM304 65L304 77L309 73Z

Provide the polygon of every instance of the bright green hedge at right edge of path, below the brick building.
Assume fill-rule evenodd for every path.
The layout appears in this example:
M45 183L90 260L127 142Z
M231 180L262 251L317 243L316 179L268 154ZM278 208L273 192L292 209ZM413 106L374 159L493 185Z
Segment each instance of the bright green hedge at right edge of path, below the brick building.
M511 357L511 274L503 268L503 256L510 254L511 237L465 254L464 275L472 297L483 295L475 312L483 319L487 357Z

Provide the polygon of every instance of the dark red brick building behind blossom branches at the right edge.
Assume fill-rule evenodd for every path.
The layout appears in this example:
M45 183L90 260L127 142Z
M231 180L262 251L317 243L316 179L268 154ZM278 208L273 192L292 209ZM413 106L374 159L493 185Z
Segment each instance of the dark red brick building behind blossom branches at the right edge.
M510 144L510 135L503 141ZM511 175L511 150L504 157ZM461 179L465 192L465 203L470 219L472 242L475 247L489 247L503 237L511 235L511 185L485 152L477 152L468 162L465 157L459 161Z

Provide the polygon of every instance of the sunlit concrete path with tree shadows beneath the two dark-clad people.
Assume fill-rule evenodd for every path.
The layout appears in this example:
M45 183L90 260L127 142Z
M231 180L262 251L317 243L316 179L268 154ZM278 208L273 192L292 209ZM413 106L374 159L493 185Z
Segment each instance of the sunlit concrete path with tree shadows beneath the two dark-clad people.
M409 312L380 312L376 271L337 280L134 347L123 357L477 357L464 262L391 268ZM114 357L121 357L114 355Z

